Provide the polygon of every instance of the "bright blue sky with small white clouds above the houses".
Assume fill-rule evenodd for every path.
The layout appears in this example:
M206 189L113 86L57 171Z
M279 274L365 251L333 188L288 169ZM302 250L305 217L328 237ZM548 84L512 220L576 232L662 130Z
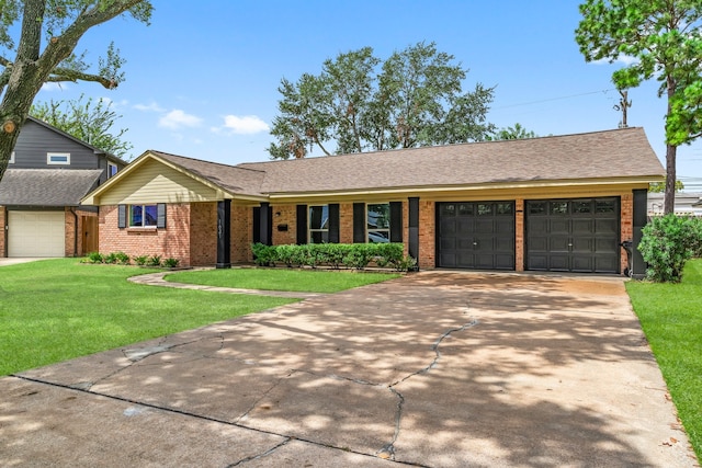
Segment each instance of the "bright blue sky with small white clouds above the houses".
M115 91L46 87L37 101L109 98L133 156L156 149L224 163L263 161L281 79L318 73L326 58L364 46L387 58L435 42L469 69L464 90L495 88L488 121L537 135L616 128L621 64L586 64L574 39L577 0L155 0L150 26L117 19L77 50L97 57L114 39L127 62ZM643 126L661 161L666 102L657 82L630 91L630 126ZM317 155L314 152L313 155ZM678 175L702 178L702 144L681 147Z

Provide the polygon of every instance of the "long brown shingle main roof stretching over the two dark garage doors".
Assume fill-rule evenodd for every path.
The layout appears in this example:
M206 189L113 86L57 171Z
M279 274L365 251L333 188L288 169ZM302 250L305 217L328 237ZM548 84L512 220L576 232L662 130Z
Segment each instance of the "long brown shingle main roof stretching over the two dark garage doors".
M239 164L262 193L303 193L665 174L643 128Z

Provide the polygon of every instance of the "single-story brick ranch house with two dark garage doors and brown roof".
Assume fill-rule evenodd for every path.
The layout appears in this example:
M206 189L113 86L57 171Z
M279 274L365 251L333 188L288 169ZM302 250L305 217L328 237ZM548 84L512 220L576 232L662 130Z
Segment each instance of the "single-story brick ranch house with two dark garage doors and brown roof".
M664 176L643 128L237 165L149 150L83 204L102 253L183 265L250 262L259 241L393 241L420 269L616 274Z

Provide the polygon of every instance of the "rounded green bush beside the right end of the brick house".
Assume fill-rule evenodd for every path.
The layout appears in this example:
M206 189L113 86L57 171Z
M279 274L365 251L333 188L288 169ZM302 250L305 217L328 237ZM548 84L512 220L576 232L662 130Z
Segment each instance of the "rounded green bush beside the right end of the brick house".
M702 218L669 214L654 217L643 229L638 250L648 264L646 277L657 283L679 283L686 262L700 252Z

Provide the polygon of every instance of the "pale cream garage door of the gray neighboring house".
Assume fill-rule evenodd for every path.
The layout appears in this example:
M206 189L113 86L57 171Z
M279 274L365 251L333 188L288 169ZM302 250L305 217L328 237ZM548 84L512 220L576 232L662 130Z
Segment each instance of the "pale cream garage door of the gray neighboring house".
M64 212L8 212L8 256L65 256Z

